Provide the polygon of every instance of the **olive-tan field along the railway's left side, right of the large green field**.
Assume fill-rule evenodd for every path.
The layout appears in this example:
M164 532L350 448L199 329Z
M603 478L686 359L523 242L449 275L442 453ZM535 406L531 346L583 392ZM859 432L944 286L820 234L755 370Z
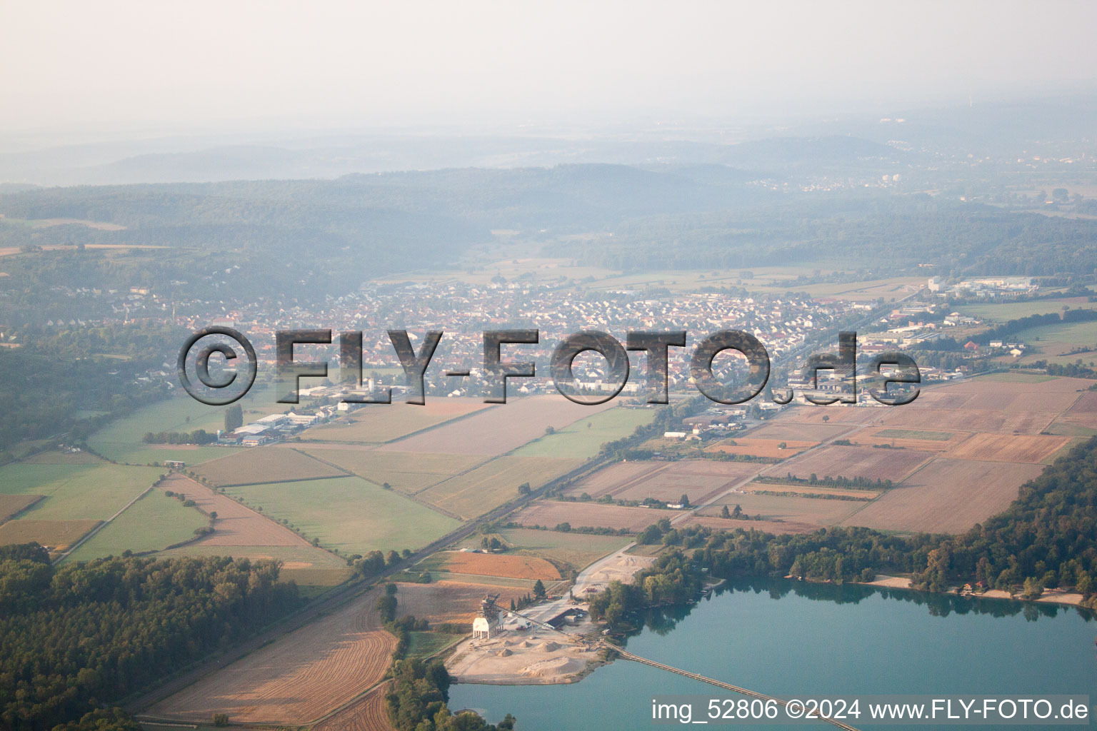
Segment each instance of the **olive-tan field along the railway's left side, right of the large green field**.
M529 482L535 490L579 464L552 457L496 457L416 493L416 499L470 519L518 498L518 486Z

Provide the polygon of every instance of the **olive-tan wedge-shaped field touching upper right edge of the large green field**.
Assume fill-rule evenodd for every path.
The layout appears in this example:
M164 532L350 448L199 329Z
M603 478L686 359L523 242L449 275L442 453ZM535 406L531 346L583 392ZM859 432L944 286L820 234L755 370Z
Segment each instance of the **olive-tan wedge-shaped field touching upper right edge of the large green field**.
M465 472L484 461L471 455L432 455L414 452L384 452L341 445L342 448L306 447L304 452L337 465L374 484L388 483L393 490L415 494L448 477Z

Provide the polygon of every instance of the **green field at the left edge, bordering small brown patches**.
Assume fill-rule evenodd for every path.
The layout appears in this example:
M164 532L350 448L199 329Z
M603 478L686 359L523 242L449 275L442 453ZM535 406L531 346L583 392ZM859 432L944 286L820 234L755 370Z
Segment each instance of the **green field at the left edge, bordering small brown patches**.
M39 494L45 500L19 519L105 521L152 484L163 470L122 465L29 465L0 467L0 492Z

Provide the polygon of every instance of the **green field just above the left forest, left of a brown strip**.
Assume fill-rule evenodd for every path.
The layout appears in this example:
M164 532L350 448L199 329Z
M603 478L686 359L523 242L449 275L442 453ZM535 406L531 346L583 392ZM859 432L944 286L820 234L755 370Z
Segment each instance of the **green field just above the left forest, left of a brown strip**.
M76 549L66 561L121 556L126 549L135 553L160 550L193 538L194 530L208 523L210 519L193 507L184 507L174 498L152 490Z

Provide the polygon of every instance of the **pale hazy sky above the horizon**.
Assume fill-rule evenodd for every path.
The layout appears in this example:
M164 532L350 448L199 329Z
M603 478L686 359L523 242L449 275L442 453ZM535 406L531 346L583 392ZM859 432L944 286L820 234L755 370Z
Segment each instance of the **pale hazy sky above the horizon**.
M0 128L903 108L1094 89L1095 28L1092 0L0 0Z

